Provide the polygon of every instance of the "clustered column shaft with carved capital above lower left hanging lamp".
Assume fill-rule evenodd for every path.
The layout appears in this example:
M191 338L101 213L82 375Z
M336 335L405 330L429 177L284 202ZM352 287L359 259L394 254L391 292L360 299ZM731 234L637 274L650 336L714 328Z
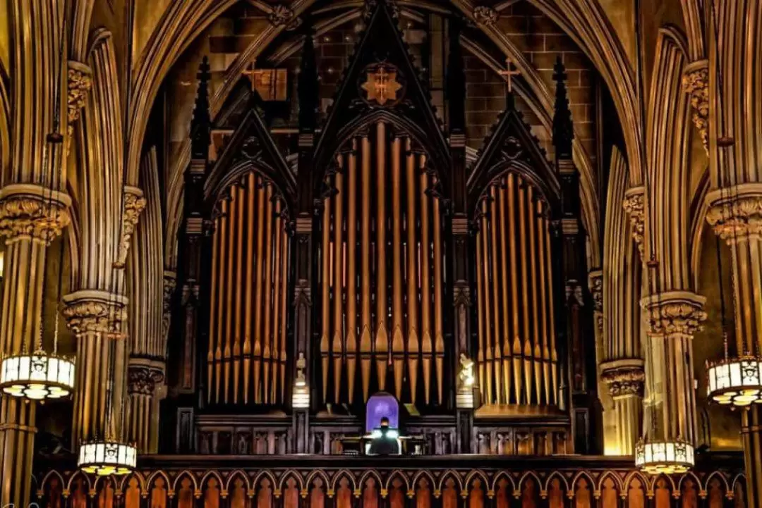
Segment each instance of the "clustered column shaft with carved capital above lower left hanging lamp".
M123 388L114 383L110 414L107 386L124 379L126 360L127 298L99 290L82 290L63 297L66 324L77 339L76 386L72 446L84 440L106 437L118 428L115 419L123 409ZM110 370L113 369L113 375ZM110 424L112 427L107 429Z

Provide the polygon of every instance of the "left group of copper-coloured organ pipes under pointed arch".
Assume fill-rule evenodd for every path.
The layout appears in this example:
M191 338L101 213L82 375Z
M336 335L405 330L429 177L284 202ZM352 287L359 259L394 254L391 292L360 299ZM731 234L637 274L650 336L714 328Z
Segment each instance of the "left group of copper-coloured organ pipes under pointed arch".
M288 235L274 186L250 172L219 203L212 247L207 402L281 405Z

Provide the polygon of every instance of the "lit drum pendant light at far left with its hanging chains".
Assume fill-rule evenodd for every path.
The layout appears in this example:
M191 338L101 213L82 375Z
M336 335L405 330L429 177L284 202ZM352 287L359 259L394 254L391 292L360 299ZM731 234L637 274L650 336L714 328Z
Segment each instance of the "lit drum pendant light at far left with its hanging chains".
M63 17L63 25L66 26L66 14ZM63 33L66 30L62 30L62 39L59 43L59 62L63 62ZM61 75L61 67L59 66L58 76ZM43 147L43 182L46 189L43 190L43 194L40 196L41 200L41 215L43 221L52 221L49 217L54 217L56 211L53 205L53 195L56 194L57 183L61 180L56 178L56 170L54 169L56 164L56 153L63 142L63 136L59 133L60 126L60 98L59 87L56 87L56 94L53 99L53 132L46 135L45 145ZM63 161L62 154L58 157ZM62 164L61 164L62 165ZM49 192L46 199L46 192ZM32 240L33 242L37 240ZM46 239L45 248L50 244L50 240ZM29 262L31 266L34 266L34 252L38 247L32 246L30 248ZM34 351L31 351L31 344L27 341L29 333L24 333L24 344L22 344L21 352L19 354L11 354L2 357L0 361L0 389L7 395L14 397L27 398L30 400L43 401L49 398L63 398L72 393L74 390L75 379L75 364L74 359L69 357L62 357L58 355L58 324L59 324L59 302L61 301L61 272L63 270L63 249L64 244L61 242L60 256L59 256L59 284L58 295L56 298L56 314L54 317L54 332L53 332L53 354L47 354L43 348L43 336L45 332L45 281L47 275L47 265L43 268L42 274L42 298L40 304L40 326L37 329L37 341ZM30 298L30 285L27 284L27 301L31 302ZM34 332L32 332L34 333Z

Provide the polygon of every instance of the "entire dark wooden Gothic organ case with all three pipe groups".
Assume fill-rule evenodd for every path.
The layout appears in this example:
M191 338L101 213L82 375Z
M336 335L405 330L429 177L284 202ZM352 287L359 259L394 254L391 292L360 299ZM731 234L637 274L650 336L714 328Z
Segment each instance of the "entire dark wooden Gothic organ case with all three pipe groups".
M430 454L596 450L594 359L571 361L594 351L571 117L551 164L509 93L467 167L459 21L443 127L395 16L369 10L323 122L306 27L296 169L248 87L212 122L202 69L166 451L341 453L379 391ZM475 408L456 404L461 357Z

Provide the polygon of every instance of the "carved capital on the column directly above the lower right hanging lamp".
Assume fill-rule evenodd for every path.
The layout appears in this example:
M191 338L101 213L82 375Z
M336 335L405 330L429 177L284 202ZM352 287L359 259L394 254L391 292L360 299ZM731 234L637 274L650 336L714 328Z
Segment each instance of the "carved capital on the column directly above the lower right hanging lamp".
M648 313L649 335L693 338L706 320L706 298L690 291L667 291L640 300Z

